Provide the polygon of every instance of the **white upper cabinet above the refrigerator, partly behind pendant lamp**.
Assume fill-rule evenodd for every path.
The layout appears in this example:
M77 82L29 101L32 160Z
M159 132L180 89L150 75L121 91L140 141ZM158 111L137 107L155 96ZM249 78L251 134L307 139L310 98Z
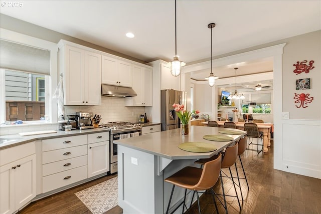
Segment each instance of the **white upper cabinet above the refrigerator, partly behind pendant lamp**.
M161 63L161 90L163 89L181 90L181 75L174 77L171 68L165 63Z

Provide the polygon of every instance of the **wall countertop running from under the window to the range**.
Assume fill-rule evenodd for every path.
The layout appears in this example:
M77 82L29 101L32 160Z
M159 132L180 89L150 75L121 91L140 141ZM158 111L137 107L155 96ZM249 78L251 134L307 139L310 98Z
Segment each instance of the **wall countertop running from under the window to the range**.
M109 131L109 130L104 128L94 128L94 129L84 129L84 130L74 129L71 131L57 131L56 133L37 134L37 135L29 135L29 136L20 136L19 134L1 135L0 139L2 138L19 138L19 139L8 143L0 144L0 150L21 145L24 143L29 143L35 140L45 140L45 139L52 139L52 138L58 138L58 137L68 137L68 136L92 134L92 133L99 133L99 132L106 132L106 131Z

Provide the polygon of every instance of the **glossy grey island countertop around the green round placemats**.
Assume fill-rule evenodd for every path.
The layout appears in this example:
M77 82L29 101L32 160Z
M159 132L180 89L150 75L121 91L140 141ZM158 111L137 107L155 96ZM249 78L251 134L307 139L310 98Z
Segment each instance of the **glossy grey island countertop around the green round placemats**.
M232 142L237 141L239 138L244 136L247 132L243 131L244 134L230 135L233 137L231 141L210 141L203 139L204 135L224 135L219 133L219 130L226 128L217 127L205 127L205 126L190 126L190 131L188 135L182 135L181 129L172 129L162 132L154 132L146 135L141 135L132 138L125 138L120 140L115 140L114 143L122 145L128 148L136 149L138 151L143 151L149 154L153 154L159 157L165 157L168 159L193 159L193 158L209 158L219 151L226 148ZM178 146L185 142L205 142L213 144L217 147L217 150L213 152L188 152L180 149Z

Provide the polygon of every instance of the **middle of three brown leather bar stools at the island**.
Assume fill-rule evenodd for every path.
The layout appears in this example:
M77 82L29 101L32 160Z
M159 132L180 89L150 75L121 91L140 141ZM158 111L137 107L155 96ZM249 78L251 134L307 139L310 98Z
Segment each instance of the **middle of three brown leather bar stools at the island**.
M222 158L222 164L221 164L221 169L224 169L224 168L229 168L229 171L230 171L230 174L231 176L228 176L232 182L233 182L233 186L234 186L234 190L235 190L235 193L236 193L236 196L235 195L226 195L225 194L225 191L224 191L224 184L223 184L223 178L222 178L222 170L220 170L220 178L221 178L221 185L222 185L222 191L223 191L223 199L224 199L224 204L221 202L221 200L219 200L221 202L221 204L224 206L225 208L225 212L227 213L227 205L226 205L226 198L225 196L233 196L233 197L237 197L237 201L239 203L239 207L240 207L240 210L242 209L241 207L241 203L240 203L240 200L239 200L239 196L237 194L237 190L236 190L236 187L235 187L235 182L234 182L234 178L233 178L233 174L232 174L232 171L231 171L231 166L233 164L235 164L235 161L237 159L237 155L238 155L238 143L236 143L235 145L233 146L229 146L225 149L225 152L223 154L223 158ZM195 161L195 163L198 163L198 164L201 164L201 165L204 165L206 162L208 162L210 160L210 158L208 159L199 159L197 161ZM237 169L236 169L237 170ZM224 172L223 172L224 173ZM215 194L217 196L217 194Z

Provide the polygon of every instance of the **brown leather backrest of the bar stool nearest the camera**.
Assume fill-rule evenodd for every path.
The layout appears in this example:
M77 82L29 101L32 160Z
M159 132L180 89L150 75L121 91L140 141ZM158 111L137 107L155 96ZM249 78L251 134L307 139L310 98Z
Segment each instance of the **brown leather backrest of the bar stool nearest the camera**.
M194 186L195 190L206 190L212 188L220 176L222 163L222 154L214 160L208 161L204 164L201 178Z

